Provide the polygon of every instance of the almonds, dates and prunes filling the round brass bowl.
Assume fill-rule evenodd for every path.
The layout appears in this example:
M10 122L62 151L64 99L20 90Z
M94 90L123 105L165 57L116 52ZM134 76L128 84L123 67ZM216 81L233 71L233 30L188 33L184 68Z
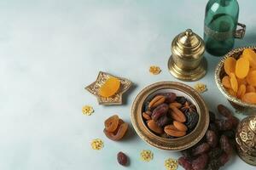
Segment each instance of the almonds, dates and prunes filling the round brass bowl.
M198 122L195 105L174 93L157 94L146 102L143 119L148 128L163 138L182 137Z

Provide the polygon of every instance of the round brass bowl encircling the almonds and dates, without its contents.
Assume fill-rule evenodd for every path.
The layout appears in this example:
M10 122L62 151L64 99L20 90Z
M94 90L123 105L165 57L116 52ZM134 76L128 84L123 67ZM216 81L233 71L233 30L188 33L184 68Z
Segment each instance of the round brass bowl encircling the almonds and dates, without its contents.
M143 106L154 95L166 92L174 92L189 99L197 109L199 121L195 129L177 139L165 139L152 133L143 121ZM209 125L209 113L207 105L195 89L180 82L156 82L141 91L133 102L131 108L131 122L137 134L148 144L161 150L185 150L197 144L207 132Z

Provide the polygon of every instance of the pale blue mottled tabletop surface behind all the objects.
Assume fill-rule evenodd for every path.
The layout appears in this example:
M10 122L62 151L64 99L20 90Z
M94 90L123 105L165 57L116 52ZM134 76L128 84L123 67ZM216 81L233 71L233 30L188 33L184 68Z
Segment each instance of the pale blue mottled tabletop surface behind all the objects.
M247 25L247 34L236 41L237 47L256 42L255 0L239 3L239 20ZM124 141L113 142L102 133L103 121L118 113L131 125L131 104L142 88L177 81L166 67L170 44L187 28L202 36L206 4L207 0L1 0L0 169L165 169L164 160L179 153L154 149L132 128ZM201 82L208 91L202 96L212 111L219 103L231 108L214 82L219 58L205 56L208 72ZM160 65L160 75L151 76L149 65ZM135 83L125 105L97 105L84 90L98 71ZM92 116L82 115L86 104L94 106ZM94 138L104 140L103 150L90 149ZM144 149L154 152L153 161L139 160ZM131 158L129 167L117 163L120 150ZM238 156L224 167L241 168L253 169Z

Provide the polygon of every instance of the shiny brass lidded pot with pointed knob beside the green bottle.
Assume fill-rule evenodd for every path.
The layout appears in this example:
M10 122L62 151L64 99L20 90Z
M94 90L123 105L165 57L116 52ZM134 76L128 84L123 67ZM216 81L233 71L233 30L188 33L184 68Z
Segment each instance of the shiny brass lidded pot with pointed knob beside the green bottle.
M172 56L168 68L173 77L183 81L196 81L207 73L207 60L203 57L205 43L188 29L172 41Z

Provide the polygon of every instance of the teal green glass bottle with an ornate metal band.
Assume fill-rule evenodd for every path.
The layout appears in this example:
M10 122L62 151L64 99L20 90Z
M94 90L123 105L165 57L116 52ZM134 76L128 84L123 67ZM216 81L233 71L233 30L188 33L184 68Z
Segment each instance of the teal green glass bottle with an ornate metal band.
M239 5L236 0L209 0L204 41L209 54L222 56L234 47Z

